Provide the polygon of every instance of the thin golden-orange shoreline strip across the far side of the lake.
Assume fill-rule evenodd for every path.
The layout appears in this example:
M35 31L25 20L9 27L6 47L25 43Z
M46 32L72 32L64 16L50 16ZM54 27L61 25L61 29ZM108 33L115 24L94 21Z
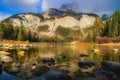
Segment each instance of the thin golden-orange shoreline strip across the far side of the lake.
M95 43L95 42L80 42L80 41L72 41L72 42L29 42L29 41L15 41L15 40L0 40L0 44L34 44L34 43L67 43L70 45L85 45L85 44L93 44L93 45L116 45L120 46L120 42L108 42L108 43Z

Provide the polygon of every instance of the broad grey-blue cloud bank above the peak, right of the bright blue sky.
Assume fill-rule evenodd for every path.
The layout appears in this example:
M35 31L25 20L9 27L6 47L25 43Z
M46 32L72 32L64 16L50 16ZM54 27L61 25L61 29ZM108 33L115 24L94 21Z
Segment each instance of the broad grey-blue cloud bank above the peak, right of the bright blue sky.
M79 11L82 13L102 13L111 14L115 9L114 5L118 0L43 0L42 9L60 8L66 3L76 2L79 5ZM112 10L111 10L112 6Z

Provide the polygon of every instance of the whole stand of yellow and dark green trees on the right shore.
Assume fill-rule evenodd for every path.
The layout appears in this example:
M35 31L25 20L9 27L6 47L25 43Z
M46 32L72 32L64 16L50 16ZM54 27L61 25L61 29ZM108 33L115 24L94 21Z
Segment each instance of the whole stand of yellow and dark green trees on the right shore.
M103 22L99 17L96 17L94 25L86 28L88 33L87 42L99 42L104 39L118 39L120 37L120 9L115 11L111 17ZM120 41L117 40L117 41Z

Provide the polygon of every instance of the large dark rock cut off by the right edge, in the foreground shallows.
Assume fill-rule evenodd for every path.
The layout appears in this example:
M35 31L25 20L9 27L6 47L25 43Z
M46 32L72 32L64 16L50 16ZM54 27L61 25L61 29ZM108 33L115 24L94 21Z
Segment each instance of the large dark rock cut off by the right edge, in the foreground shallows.
M120 62L104 61L101 65L104 70L112 71L120 76Z

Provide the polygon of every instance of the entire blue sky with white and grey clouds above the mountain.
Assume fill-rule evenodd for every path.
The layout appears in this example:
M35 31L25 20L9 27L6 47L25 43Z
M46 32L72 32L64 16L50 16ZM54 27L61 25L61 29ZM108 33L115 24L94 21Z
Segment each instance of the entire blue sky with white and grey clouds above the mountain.
M48 8L77 3L79 12L112 14L120 8L120 0L0 0L0 20L19 13L41 13Z

